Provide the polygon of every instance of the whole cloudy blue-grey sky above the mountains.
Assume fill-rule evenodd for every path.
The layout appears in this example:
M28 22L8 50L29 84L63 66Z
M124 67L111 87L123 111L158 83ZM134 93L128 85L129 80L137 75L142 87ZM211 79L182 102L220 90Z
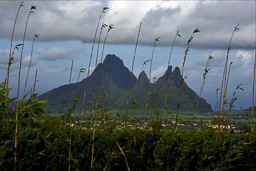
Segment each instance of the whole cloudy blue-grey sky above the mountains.
M21 1L0 1L0 79L4 81L9 59L11 33L16 12ZM28 90L33 85L36 69L38 80L36 91L48 90L67 84L74 60L72 82L75 83L80 68L88 68L92 42L98 18L104 7L109 9L103 14L101 24L113 24L108 33L104 56L116 54L131 70L138 28L142 22L138 48L135 56L134 74L138 77L143 62L150 59L155 38L157 42L153 56L152 78L163 75L167 69L170 48L175 33L179 31L173 47L170 65L181 67L185 47L195 28L196 33L185 63L186 83L196 93L200 93L206 60L210 61L210 71L205 80L202 97L215 108L216 89L221 87L222 73L227 56L232 31L237 24L229 55L233 61L227 98L232 98L235 88L238 100L235 109L252 105L253 66L255 61L255 1L24 1L16 23L14 45L22 43L24 27L29 9L37 6L29 18L24 43L21 70L21 90L31 56L34 34L40 33L35 40L32 68L29 75ZM103 29L103 37L107 28ZM98 36L97 36L98 40ZM103 41L103 40L102 40ZM96 48L94 48L96 49ZM100 51L102 50L102 45ZM16 96L19 60L21 51L15 51L11 66L11 96ZM96 51L93 51L91 71L95 68ZM144 67L149 73L149 63ZM83 73L81 79L86 78Z

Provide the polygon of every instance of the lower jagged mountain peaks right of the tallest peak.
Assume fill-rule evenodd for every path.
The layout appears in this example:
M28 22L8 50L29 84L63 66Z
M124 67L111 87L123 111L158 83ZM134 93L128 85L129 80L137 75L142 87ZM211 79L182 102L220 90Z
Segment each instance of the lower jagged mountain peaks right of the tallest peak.
M155 83L150 83L149 88L149 97L148 97L148 106L153 105L153 107L162 107L165 106L165 90L166 90L166 79L167 80L167 106L168 109L176 110L178 104L178 94L180 91L180 68L176 67L172 71L172 66L168 66L168 70L165 71L165 74L158 78ZM147 103L148 93L148 77L143 71L140 73L138 80L135 83L135 86L131 89L130 101L133 101L133 104L136 103L138 108L145 108ZM198 101L198 95L184 82L181 95L180 95L180 110L190 110L191 106L195 108L195 105ZM206 113L213 111L210 104L208 104L205 99L200 98L198 103L198 112Z

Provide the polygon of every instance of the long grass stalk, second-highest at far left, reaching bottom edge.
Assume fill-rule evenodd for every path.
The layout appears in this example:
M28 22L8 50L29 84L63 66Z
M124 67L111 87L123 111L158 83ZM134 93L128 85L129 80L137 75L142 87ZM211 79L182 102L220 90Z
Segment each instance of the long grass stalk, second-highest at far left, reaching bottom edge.
M24 42L25 42L25 37L26 37L26 28L28 26L29 16L30 16L31 13L34 13L34 9L36 9L36 6L31 6L28 18L26 19L26 26L25 26L25 30L24 30L23 43L22 43L22 49L21 49L21 57L20 57L20 62L19 62L19 77L18 77L18 90L17 90L17 102L16 102L16 121L15 121L16 128L15 128L15 145L14 145L14 147L15 147L14 170L16 170L16 157L17 157L17 133L18 133L18 113L19 113L19 86L20 86L20 81L21 81L21 63L22 63L22 55L23 55L23 50L24 50Z

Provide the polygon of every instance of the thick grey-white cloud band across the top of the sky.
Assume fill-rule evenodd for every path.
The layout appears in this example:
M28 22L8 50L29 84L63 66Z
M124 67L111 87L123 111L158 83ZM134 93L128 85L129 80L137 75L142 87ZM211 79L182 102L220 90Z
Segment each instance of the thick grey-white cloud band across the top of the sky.
M10 38L19 3L0 1L1 38ZM174 6L172 3L180 4ZM123 1L116 5L118 7L113 1L25 1L24 4L17 21L17 39L23 37L31 4L38 9L29 19L27 38L32 39L34 33L41 33L39 41L80 40L87 43L93 41L101 10L109 6L111 8L101 20L114 24L108 43L134 44L142 21L141 45L152 45L160 36L159 45L170 46L179 30L182 38L176 44L184 47L193 30L200 28L193 47L226 49L234 27L240 24L232 48L255 48L255 1L186 1L185 4L184 1ZM193 7L188 9L188 6ZM106 30L103 35L106 35Z

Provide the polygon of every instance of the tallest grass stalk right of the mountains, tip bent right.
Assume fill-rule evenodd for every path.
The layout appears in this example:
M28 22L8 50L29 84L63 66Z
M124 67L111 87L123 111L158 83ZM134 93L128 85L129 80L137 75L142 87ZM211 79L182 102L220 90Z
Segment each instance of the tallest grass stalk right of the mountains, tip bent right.
M239 26L239 24L237 24L237 26ZM220 113L221 104L225 105L225 99L224 99L225 95L224 94L225 94L225 87L226 87L226 80L227 80L227 61L228 61L228 57L229 57L229 53L230 53L230 46L231 46L232 37L233 37L233 35L236 31L239 31L239 28L237 28L237 26L235 26L234 31L232 32L232 35L230 37L230 43L229 43L229 46L227 48L226 62L225 62L225 67L224 67L223 76L222 76L222 83L221 83L221 88L220 88L219 113ZM222 99L222 93L223 93L223 99ZM224 117L224 110L222 110L222 113L221 113L221 118L223 118L223 117Z

